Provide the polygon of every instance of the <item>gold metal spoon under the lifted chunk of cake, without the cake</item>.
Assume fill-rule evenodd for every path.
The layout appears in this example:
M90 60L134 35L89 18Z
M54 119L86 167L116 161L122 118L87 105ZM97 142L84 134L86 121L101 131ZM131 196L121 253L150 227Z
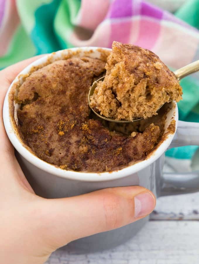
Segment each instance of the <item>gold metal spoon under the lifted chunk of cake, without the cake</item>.
M190 64L188 64L188 65L180 68L179 70L176 70L174 72L174 75L176 76L176 79L179 81L182 78L186 77L187 75L190 75L190 74L192 74L194 72L197 72L197 71L199 71L199 60L197 60L195 62L192 62L192 63L190 63ZM89 93L88 93L88 104L89 104L89 106L90 106L90 96L93 95L94 90L95 90L95 88L97 86L97 82L102 81L103 79L104 79L104 77L99 78L97 81L93 82L92 86L90 87L90 90L89 90ZM162 106L160 106L159 109ZM102 116L102 115L98 114L94 109L92 109L92 107L90 107L90 108L100 118L105 119L107 121L111 121L111 122L116 122L116 123L131 123L131 122L136 122L136 121L140 121L140 120L143 119L143 118L136 118L136 119L133 119L132 121L129 121L129 120L115 120L115 119L110 118L110 117Z

